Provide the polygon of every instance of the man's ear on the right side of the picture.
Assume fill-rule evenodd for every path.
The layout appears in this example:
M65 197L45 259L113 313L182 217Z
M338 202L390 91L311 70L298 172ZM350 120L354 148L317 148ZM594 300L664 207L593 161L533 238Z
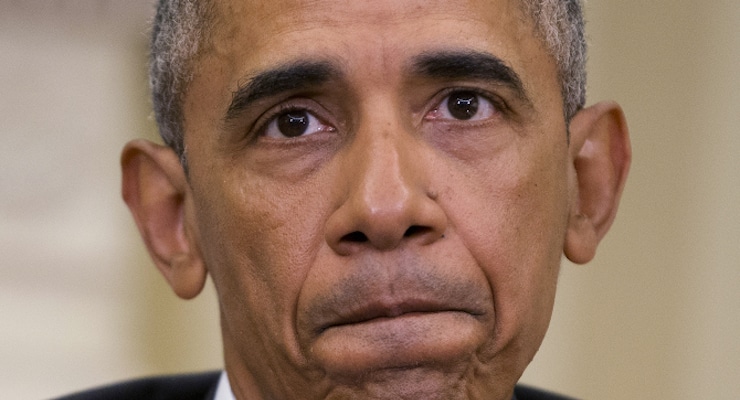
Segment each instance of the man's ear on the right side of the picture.
M571 210L564 253L583 264L617 213L632 159L622 109L604 102L578 112L570 123Z

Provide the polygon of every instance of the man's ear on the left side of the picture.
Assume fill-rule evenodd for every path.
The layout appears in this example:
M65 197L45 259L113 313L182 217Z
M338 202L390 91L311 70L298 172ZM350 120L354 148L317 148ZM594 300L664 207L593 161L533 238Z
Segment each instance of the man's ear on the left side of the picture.
M123 199L149 255L174 292L198 295L207 270L195 231L192 194L175 152L146 140L129 142L121 154Z

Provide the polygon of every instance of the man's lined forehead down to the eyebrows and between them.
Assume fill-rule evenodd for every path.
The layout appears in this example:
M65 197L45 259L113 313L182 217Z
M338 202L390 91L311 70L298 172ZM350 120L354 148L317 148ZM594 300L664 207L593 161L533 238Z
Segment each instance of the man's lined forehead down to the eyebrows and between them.
M207 98L224 109L246 80L281 65L328 61L366 88L401 87L414 58L440 51L492 55L521 78L535 109L560 102L555 64L519 0L224 0L213 6L186 119ZM195 97L194 88L200 88Z

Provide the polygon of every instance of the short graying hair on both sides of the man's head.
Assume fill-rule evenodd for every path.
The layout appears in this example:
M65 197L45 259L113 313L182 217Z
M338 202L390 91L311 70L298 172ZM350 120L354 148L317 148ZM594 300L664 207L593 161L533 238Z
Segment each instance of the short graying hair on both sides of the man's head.
M586 102L586 40L580 0L520 0L558 67L566 122ZM210 33L212 0L159 0L149 84L159 133L185 162L183 99Z

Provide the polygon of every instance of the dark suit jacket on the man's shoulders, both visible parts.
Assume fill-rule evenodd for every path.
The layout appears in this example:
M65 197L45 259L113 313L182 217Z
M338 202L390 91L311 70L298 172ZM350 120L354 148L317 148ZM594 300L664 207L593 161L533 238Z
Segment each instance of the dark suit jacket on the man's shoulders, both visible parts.
M57 400L213 400L220 371L161 376L80 392ZM569 400L527 386L517 385L512 400Z

